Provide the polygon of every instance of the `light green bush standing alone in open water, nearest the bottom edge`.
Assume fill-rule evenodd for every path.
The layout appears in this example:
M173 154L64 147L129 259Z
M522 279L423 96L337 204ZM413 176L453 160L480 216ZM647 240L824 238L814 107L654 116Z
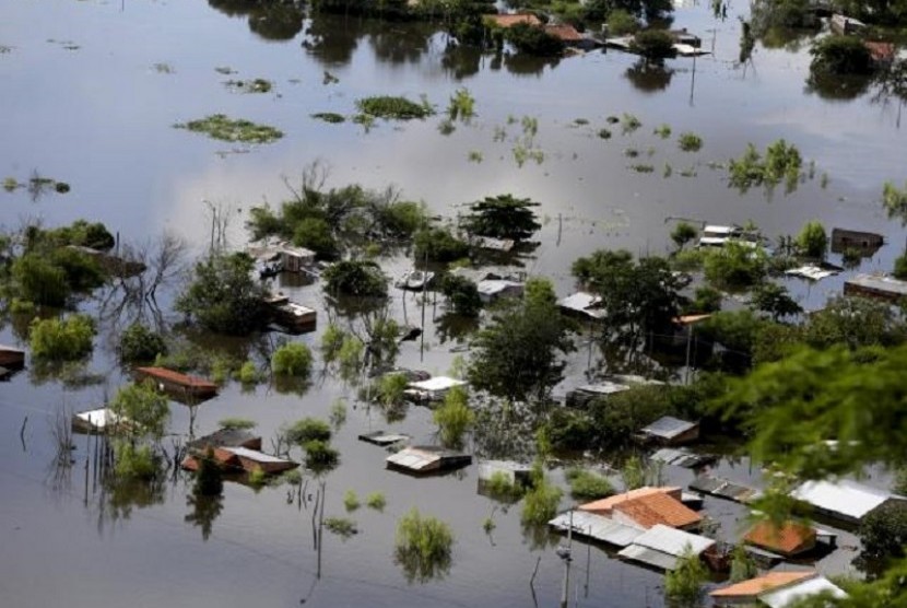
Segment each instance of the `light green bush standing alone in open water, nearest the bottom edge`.
M412 508L397 523L393 558L407 580L424 583L450 570L454 534L444 522Z

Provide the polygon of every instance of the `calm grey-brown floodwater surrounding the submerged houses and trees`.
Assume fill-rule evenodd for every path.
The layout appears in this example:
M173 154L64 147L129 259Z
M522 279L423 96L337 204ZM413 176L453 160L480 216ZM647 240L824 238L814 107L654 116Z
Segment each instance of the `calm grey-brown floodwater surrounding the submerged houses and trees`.
M596 248L665 252L671 217L753 220L771 237L796 234L811 219L827 229L883 233L891 244L862 270L886 269L900 253L904 231L879 202L885 180L907 177L897 103L875 103L871 93L839 101L808 92L805 46L757 46L752 63L737 66L737 14L744 7L732 5L726 21L706 7L679 8L676 26L702 35L714 54L651 72L635 57L612 51L549 62L450 54L431 26L303 21L287 19L286 11L256 13L247 4L254 2L0 0L0 177L24 182L37 172L72 187L35 201L22 189L0 192L0 224L86 218L118 231L125 243L144 243L166 230L200 252L208 243L210 201L234 209L229 235L239 246L244 210L262 200L279 202L287 194L282 178L294 182L319 161L330 167L330 186L393 185L445 215L456 214L460 203L504 192L540 201L545 225L527 268L552 277L561 293L570 287L573 259ZM273 81L273 91L242 94L224 84L255 78ZM374 94L425 94L443 110L459 87L475 97L478 116L449 136L438 131L439 117L378 121L367 132L350 121L310 118L318 112L351 116L357 98ZM285 137L246 148L172 128L214 113L273 125ZM624 113L643 122L635 133L624 136L605 122ZM513 149L523 137L523 116L538 119L532 145L544 157L518 166ZM661 124L674 135L700 135L703 151L684 153L674 138L661 140L652 133ZM609 140L597 135L604 127L613 131ZM789 196L781 188L770 197L761 189L740 195L728 188L722 169L710 167L740 155L746 142L764 148L778 138L815 162L816 177ZM628 159L628 148L639 156ZM470 161L470 152L481 162ZM673 169L667 178L665 163ZM628 168L633 164L655 171L637 173ZM823 173L829 177L824 188ZM397 272L407 264L392 260L390 268ZM810 289L791 285L815 306L840 283L836 278ZM327 303L318 285L284 288L317 306L323 321ZM402 295L394 297L402 319ZM419 304L407 297L412 321ZM429 306L429 318L434 313ZM19 339L10 325L0 330L2 342ZM315 343L317 335L303 339ZM361 496L382 491L388 506L384 513L355 512L361 533L346 541L326 535L320 577L310 507L287 504L285 488L255 492L228 483L207 540L185 519L192 508L190 484L181 478L152 500L131 508L127 500L127 507L114 508L114 496L84 483L84 437L76 441L72 468L59 471L49 431L63 408L97 407L125 382L110 343L102 336L91 362L99 384L68 387L26 371L0 385L0 605L516 607L558 600L561 560L552 547L523 536L519 507L495 513L491 537L482 530L494 503L476 494L474 467L414 479L385 470L384 453L355 440L388 429L429 442L429 411L410 408L402 422L387 424L378 412L353 409L355 389L333 378L315 383L302 397L228 386L200 406L195 420L195 430L204 433L226 417L252 418L267 445L281 424L327 417L332 401L346 398L348 422L335 440L342 464L327 476L326 515L344 514L346 490ZM400 362L444 373L454 358L449 347L429 329L425 351L408 342ZM569 370L578 373L584 365L578 360ZM177 404L172 432L189 432L188 411ZM314 492L314 484L308 488ZM730 519L737 516L708 504L731 513ZM409 584L392 562L396 521L413 506L455 529L454 563L440 581ZM733 528L729 522L727 538L739 533ZM537 563L533 597L529 582ZM601 549L587 558L584 548L576 551L568 595L584 606L660 606L660 585L657 573L610 559Z

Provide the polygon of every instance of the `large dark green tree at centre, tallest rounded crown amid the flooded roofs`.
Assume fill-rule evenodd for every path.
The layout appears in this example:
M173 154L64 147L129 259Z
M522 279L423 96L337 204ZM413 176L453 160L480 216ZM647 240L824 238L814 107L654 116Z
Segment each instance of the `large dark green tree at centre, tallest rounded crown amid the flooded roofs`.
M562 355L573 350L556 307L518 304L495 314L479 331L469 382L511 401L541 401L563 377Z

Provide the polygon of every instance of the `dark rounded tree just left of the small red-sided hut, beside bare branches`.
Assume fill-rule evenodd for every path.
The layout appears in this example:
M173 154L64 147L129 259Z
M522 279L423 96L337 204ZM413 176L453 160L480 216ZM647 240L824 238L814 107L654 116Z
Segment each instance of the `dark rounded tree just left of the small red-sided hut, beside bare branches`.
M245 336L268 320L264 288L252 278L254 260L240 253L198 262L192 282L174 307L217 334Z

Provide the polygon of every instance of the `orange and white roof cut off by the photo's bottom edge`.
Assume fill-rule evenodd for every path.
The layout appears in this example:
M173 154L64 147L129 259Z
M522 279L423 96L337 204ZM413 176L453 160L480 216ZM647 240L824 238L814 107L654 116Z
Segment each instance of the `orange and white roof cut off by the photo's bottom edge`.
M709 593L716 606L769 606L784 608L823 592L845 597L844 591L815 571L767 572Z

